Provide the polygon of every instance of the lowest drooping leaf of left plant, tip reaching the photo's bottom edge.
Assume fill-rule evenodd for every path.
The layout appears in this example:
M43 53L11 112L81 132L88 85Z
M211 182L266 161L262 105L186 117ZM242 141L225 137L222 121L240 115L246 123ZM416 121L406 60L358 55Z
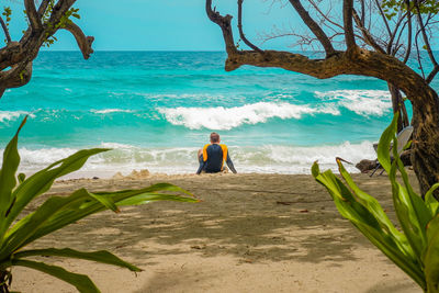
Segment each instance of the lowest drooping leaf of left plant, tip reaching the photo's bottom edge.
M50 274L59 280L63 280L71 285L76 286L76 289L79 292L83 292L83 293L99 293L100 292L99 289L93 284L93 282L87 275L79 274L79 273L72 273L72 272L66 271L65 269L57 267L57 266L50 266L50 264L46 264L44 262L22 260L22 259L12 260L12 264L20 266L20 267L26 267L30 269L34 269L34 270Z

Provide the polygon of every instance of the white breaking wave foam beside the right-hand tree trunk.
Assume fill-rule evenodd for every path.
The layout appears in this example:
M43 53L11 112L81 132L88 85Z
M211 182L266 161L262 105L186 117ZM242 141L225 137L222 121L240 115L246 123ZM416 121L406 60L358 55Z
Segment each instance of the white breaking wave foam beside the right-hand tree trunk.
M389 91L337 90L327 92L316 91L315 94L325 102L333 102L337 108L344 106L363 116L382 116L392 109Z

